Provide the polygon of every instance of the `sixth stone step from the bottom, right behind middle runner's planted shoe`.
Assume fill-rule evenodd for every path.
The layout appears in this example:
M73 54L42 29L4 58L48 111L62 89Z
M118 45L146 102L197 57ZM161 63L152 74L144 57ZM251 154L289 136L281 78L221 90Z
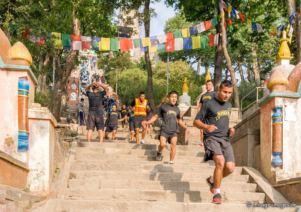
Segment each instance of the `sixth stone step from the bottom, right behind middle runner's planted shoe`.
M202 153L204 154L204 153ZM157 155L157 154L156 154ZM96 161L103 161L103 160L142 160L142 161L156 161L156 155L136 155L136 154L115 154L115 155L107 155L107 154L100 154L100 153L79 153L75 155L76 160L85 160L86 162L91 162L94 160ZM169 161L170 156L162 156L160 161ZM177 161L185 162L185 163L202 163L203 157L185 157L185 156L175 156L173 162L176 163Z

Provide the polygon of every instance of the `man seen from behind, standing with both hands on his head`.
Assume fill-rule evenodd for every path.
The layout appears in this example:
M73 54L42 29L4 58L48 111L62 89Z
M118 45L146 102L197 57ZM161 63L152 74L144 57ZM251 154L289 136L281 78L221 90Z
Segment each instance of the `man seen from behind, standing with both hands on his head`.
M89 91L92 87L93 92ZM102 87L104 90L99 91L99 87ZM99 142L104 141L104 117L102 109L102 98L106 95L109 89L97 82L92 83L85 89L87 97L89 99L89 114L87 118L87 141L90 142L92 138L92 132L95 130L98 131Z

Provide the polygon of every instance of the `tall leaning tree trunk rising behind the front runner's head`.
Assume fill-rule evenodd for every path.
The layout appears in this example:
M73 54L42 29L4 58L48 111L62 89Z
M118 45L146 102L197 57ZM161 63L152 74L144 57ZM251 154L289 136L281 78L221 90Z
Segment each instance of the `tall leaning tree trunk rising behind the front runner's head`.
M220 10L221 14L224 13L224 9L222 8L222 3L219 3L219 10ZM226 38L225 38L226 29L225 29L225 26L224 26L224 21L225 21L225 17L222 16L221 21L220 21L220 25L221 25L221 28L222 28L222 34L220 34L220 37L222 37L222 49L223 49L223 53L224 53L224 56L225 56L225 59L226 59L227 68L230 71L231 81L232 81L232 84L233 84L234 106L236 108L238 108L239 111L240 111L238 89L237 89L236 78L235 78L235 70L232 67L231 59L228 55L227 46L226 46ZM240 112L239 112L239 114L240 114Z

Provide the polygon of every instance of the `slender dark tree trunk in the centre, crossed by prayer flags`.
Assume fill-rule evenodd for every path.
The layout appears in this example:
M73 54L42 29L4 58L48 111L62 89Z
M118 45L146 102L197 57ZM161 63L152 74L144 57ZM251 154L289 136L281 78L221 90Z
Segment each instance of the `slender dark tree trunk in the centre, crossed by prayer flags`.
M149 12L150 8L150 0L145 0L144 2L144 13ZM150 18L144 17L144 29L145 29L145 37L149 37L150 35ZM153 72L151 70L151 60L150 60L150 54L148 52L148 49L146 52L144 52L144 58L147 68L147 90L148 90L148 101L150 102L154 113L156 113L156 105L155 105L155 99L154 99L154 91L153 91Z

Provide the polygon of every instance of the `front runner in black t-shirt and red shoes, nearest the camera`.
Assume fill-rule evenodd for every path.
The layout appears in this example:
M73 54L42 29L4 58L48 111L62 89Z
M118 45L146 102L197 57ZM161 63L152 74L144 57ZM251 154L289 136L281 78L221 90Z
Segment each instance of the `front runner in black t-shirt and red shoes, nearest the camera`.
M234 171L235 160L229 136L234 134L234 128L229 128L231 115L231 96L233 86L231 81L225 80L218 89L218 96L203 103L197 113L193 125L203 129L205 156L204 162L214 160L213 177L206 179L210 191L214 193L212 203L221 204L220 185L222 178Z

